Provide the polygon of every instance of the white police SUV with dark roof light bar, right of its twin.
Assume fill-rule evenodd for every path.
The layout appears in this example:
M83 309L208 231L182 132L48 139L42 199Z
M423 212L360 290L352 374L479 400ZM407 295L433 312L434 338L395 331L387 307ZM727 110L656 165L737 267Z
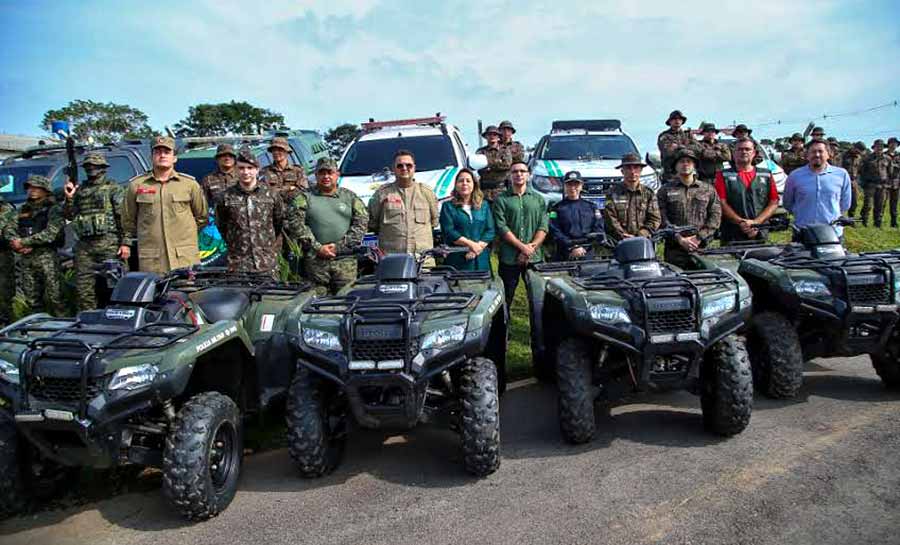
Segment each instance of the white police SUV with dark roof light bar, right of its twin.
M604 195L622 183L616 169L626 153L640 155L618 119L554 121L531 156L531 185L549 204L562 200L563 176L577 171L584 180L581 196L602 208ZM656 191L659 177L651 166L641 171L641 183Z

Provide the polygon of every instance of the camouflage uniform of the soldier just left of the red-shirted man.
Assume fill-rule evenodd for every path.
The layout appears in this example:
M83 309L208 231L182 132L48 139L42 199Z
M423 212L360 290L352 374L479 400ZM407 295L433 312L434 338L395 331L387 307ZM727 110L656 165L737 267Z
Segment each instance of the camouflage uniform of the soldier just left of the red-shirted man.
M697 228L697 237L711 238L722 222L722 205L715 188L699 180L685 185L681 180L664 184L657 192L659 213L663 227L668 225ZM690 267L693 260L677 241L667 240L666 261L682 268Z

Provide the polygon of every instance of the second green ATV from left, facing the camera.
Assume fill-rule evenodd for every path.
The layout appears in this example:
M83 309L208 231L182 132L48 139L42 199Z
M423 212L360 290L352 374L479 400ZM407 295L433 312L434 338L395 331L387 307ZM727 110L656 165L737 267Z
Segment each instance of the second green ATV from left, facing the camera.
M423 268L464 248L380 259L375 274L308 301L288 397L288 449L304 477L339 462L348 419L412 429L449 417L465 469L500 465L498 396L506 385L503 286L488 271Z

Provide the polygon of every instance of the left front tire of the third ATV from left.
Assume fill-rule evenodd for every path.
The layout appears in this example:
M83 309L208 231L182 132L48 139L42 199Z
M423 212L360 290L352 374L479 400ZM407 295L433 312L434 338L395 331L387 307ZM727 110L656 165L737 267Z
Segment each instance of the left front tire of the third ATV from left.
M594 437L596 420L593 369L588 343L564 339L556 349L556 383L559 388L559 429L569 443L587 443Z

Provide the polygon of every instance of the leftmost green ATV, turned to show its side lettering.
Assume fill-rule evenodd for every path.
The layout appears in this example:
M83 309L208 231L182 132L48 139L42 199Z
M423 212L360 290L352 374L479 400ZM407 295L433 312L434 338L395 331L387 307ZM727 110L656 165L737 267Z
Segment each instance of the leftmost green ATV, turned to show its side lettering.
M47 464L161 468L190 520L234 498L243 417L287 392L285 326L309 286L221 269L120 276L104 309L0 330L0 511L24 507Z

